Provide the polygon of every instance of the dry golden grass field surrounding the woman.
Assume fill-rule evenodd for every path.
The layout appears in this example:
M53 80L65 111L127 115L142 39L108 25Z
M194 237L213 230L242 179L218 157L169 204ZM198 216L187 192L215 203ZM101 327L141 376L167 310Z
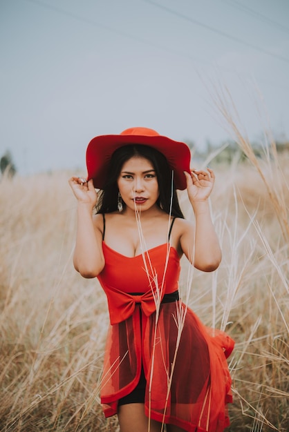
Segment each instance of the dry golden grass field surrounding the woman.
M245 146L245 144L243 143ZM194 271L180 291L236 346L229 364L230 431L289 431L289 155L274 143L216 171L212 214L218 271ZM96 279L72 264L76 202L71 173L0 182L1 431L118 431L100 406L109 325ZM185 194L180 195L187 217ZM121 276L120 276L121 277ZM136 431L137 432L137 431Z

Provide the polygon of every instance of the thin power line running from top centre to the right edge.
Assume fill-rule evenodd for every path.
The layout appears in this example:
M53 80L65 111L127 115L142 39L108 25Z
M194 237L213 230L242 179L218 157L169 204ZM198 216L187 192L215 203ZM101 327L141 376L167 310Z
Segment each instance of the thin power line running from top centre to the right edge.
M217 35L220 35L222 37L226 37L227 39L231 39L232 41L241 43L244 46L248 46L250 48L253 48L254 50L257 50L259 52L263 52L266 55L270 55L271 57L274 57L275 59L279 59L281 61L285 61L286 63L289 63L289 59L287 59L286 57L274 54L274 52L270 52L270 51L264 50L263 48L260 48L259 46L253 45L252 43L245 42L242 39L239 39L238 37L229 35L229 34L223 32L222 30L218 30L217 28L213 28L213 27L209 26L208 24L202 23L201 21L197 21L194 18L187 17L186 15L184 15L184 14L182 14L182 13L176 11L176 10L173 10L171 8L168 8L167 6L162 6L159 3L155 3L154 1L151 1L151 0L144 0L144 1L146 3L149 3L149 4L153 5L153 6L156 6L157 8L165 10L166 12L169 12L170 14L175 15L178 18L185 19L186 21L189 21L190 23L196 24L196 26L200 26L200 27L203 27L203 28L205 28L205 29L207 29L207 30L209 30L211 32L214 32Z

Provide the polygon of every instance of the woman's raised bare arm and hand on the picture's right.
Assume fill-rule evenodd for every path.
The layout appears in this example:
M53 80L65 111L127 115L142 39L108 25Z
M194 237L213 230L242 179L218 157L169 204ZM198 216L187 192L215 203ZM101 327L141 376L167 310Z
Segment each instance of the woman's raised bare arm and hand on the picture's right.
M209 209L209 195L214 186L214 171L192 170L187 177L187 193L196 225L184 224L180 247L190 262L202 271L214 271L222 259L221 248ZM185 226L186 225L186 226Z

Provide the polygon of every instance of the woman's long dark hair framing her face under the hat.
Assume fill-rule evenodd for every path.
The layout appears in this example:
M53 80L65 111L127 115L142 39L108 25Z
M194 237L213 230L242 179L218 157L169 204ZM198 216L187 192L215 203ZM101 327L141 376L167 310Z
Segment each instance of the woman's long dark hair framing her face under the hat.
M145 157L145 159L151 161L154 170L156 170L160 192L156 204L168 215L171 212L171 215L174 217L184 218L182 210L180 210L180 204L178 203L174 181L171 181L172 171L166 157L155 148L141 144L130 144L120 147L111 156L108 170L109 176L106 179L103 190L99 192L96 206L97 213L111 213L118 210L118 177L124 163L133 156Z

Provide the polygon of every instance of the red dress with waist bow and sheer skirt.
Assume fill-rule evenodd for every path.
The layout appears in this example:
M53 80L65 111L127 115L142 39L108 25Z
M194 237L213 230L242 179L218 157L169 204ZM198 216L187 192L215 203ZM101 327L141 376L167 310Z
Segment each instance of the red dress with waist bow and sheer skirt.
M101 390L105 416L117 413L118 400L135 389L143 366L149 418L185 431L223 431L232 402L226 357L234 341L205 327L181 301L161 303L178 290L176 249L167 243L126 257L103 242L103 252L98 279L111 320Z

